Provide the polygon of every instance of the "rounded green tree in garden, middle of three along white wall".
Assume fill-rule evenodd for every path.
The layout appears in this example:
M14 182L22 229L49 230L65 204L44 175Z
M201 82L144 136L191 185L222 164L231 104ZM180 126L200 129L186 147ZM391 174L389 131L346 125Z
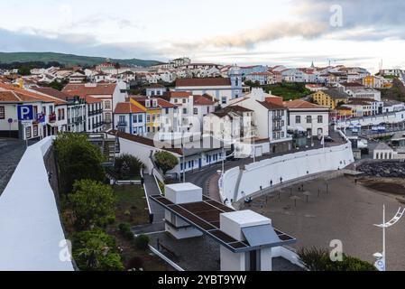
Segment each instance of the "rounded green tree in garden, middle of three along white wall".
M111 186L91 180L75 182L69 207L77 228L106 226L115 216L116 197Z

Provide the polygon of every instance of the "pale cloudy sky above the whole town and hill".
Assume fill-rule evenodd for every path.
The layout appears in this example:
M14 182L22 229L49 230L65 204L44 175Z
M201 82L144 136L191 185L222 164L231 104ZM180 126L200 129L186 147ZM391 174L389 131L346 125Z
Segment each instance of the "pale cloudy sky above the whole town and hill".
M0 51L405 68L405 1L8 0Z

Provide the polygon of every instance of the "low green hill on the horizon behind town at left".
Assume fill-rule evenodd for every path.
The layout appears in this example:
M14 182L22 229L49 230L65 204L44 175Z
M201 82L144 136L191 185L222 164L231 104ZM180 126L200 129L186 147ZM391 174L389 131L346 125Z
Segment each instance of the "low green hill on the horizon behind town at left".
M54 52L0 52L0 63L13 63L13 62L51 62L57 61L64 65L88 65L93 66L106 61L104 57L89 57L78 56L73 54L63 54ZM138 59L130 60L116 60L110 61L120 63L121 65L138 65L138 66L152 66L161 63L160 61L143 61Z

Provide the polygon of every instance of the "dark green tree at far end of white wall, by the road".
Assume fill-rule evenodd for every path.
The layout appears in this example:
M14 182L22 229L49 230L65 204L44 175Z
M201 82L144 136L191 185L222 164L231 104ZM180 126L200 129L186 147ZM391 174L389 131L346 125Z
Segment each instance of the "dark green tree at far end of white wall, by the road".
M86 135L60 134L53 144L60 170L61 191L68 193L78 180L105 180L104 156L99 147L87 141Z

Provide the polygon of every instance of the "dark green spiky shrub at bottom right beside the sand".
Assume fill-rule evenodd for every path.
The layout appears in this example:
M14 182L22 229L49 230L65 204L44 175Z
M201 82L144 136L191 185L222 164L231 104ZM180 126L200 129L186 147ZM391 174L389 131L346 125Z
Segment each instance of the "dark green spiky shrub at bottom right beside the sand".
M326 249L301 248L298 252L301 262L311 271L375 271L373 264L354 256L343 254L342 261L333 262Z

